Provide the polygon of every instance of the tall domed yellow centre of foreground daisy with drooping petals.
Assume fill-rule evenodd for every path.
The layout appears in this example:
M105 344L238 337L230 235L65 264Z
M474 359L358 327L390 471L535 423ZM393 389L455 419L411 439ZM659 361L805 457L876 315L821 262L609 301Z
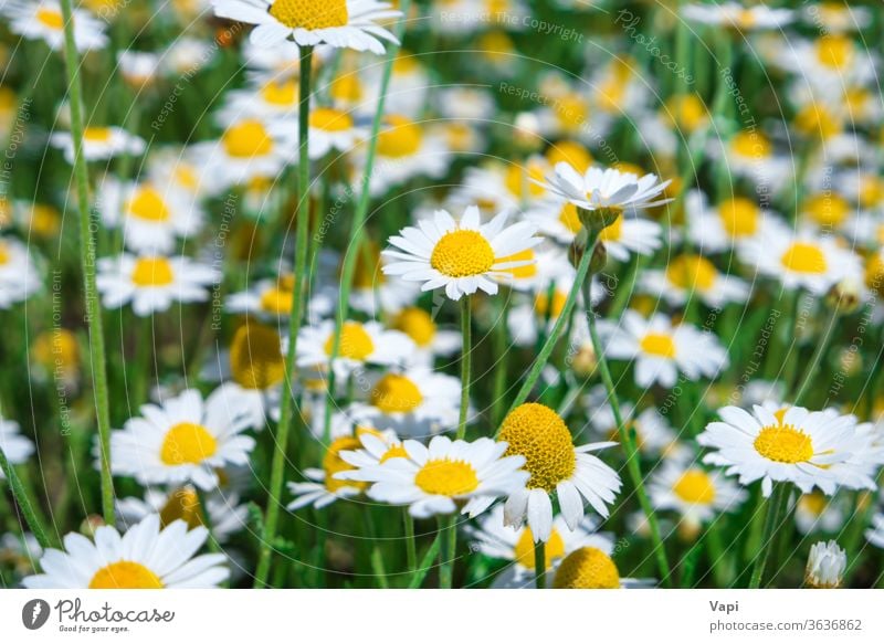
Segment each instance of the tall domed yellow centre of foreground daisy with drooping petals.
M504 419L498 439L508 444L505 455L525 456L524 468L532 474L529 488L552 492L577 467L568 426L544 404L529 402L517 407Z

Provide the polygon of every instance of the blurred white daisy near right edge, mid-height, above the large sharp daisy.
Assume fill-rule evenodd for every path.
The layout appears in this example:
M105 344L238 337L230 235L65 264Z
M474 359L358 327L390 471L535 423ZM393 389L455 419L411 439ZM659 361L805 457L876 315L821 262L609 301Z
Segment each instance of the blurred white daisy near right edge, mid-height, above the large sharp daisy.
M838 239L811 230L758 239L741 249L740 259L786 288L807 288L814 295L846 278L862 281L860 257Z

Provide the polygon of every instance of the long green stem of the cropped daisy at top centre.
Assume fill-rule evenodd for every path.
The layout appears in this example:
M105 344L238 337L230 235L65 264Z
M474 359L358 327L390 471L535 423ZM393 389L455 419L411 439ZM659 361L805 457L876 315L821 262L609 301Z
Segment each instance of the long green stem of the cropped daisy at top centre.
M70 0L67 0L70 1ZM264 533L261 537L261 551L255 571L255 588L266 586L270 571L273 541L276 538L276 528L280 521L280 503L282 499L283 478L285 473L285 452L288 444L288 431L294 420L294 405L292 400L292 382L295 377L295 354L297 350L297 331L301 327L301 317L304 310L304 268L307 264L307 235L309 232L309 107L311 107L311 75L313 62L313 46L301 48L301 82L299 82L299 112L298 112L298 167L297 167L297 228L295 230L295 280L292 293L292 312L288 319L288 351L285 358L285 378L283 380L283 399L280 409L280 423L276 426L276 442L273 451L270 476L270 498L267 499L267 514L264 519Z

